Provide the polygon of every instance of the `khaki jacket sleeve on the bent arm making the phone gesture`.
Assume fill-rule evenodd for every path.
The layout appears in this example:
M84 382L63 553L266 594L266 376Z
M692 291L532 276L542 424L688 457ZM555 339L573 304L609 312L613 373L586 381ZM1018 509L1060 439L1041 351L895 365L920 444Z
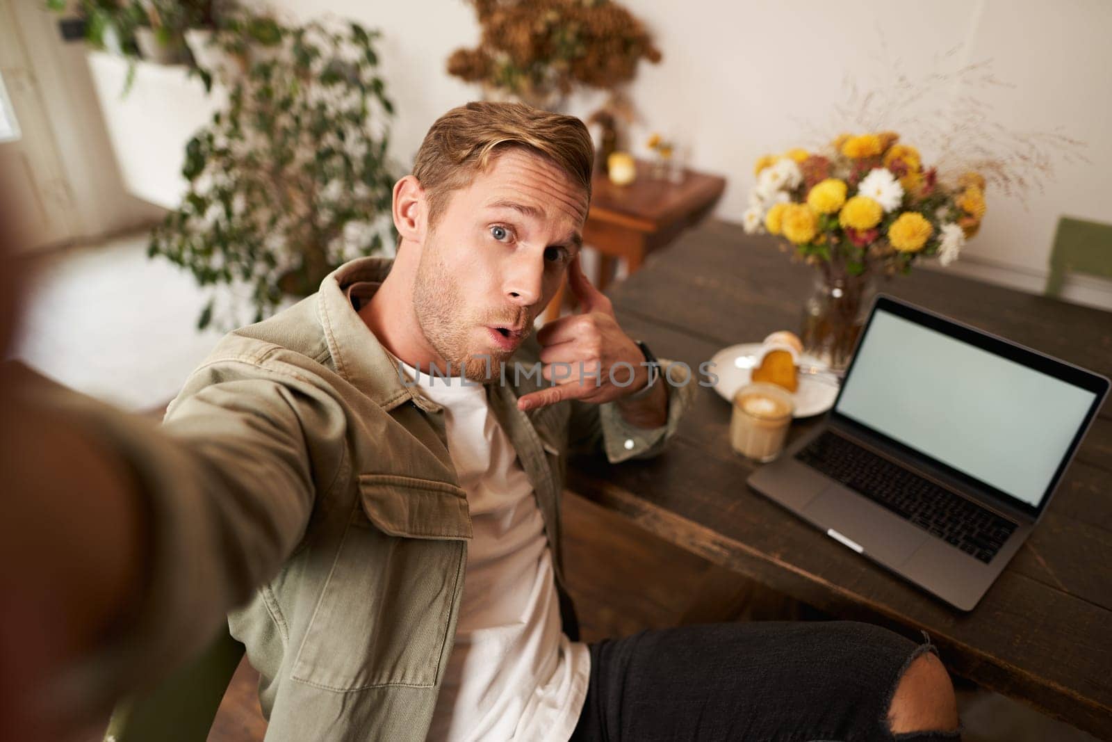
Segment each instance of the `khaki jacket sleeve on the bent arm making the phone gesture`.
M659 364L661 375L656 383L667 385L668 390L668 418L664 425L655 428L631 425L614 402L592 405L573 400L568 429L570 448L600 445L612 464L631 458L649 458L661 453L695 398L695 379L686 364L663 358Z

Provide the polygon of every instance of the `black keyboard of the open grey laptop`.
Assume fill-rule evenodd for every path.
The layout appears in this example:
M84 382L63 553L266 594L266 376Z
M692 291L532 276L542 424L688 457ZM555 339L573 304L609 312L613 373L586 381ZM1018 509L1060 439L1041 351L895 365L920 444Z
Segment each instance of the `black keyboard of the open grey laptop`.
M1015 531L1011 521L830 431L795 457L986 564Z

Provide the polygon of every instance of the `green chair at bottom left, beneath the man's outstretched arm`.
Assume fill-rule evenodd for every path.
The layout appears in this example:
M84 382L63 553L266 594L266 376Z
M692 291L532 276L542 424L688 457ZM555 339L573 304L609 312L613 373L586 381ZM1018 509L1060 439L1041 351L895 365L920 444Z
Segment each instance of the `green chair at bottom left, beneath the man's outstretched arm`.
M105 742L205 742L242 656L225 624L203 653L150 692L120 702Z

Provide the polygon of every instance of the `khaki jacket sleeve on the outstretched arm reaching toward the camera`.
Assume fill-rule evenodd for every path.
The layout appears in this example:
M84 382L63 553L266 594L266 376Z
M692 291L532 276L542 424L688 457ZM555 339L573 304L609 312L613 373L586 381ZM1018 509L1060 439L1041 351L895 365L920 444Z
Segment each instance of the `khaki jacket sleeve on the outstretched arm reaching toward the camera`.
M60 708L81 716L202 649L277 574L339 474L346 425L300 369L254 359L195 372L160 428L87 398L75 406L131 467L149 526L136 614L58 684Z

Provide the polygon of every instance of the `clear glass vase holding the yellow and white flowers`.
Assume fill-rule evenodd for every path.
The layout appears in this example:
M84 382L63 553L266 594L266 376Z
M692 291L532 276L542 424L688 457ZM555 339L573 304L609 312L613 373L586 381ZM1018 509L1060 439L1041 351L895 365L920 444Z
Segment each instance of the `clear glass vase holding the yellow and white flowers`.
M814 290L803 305L803 352L836 374L845 372L875 296L872 274L816 273Z

